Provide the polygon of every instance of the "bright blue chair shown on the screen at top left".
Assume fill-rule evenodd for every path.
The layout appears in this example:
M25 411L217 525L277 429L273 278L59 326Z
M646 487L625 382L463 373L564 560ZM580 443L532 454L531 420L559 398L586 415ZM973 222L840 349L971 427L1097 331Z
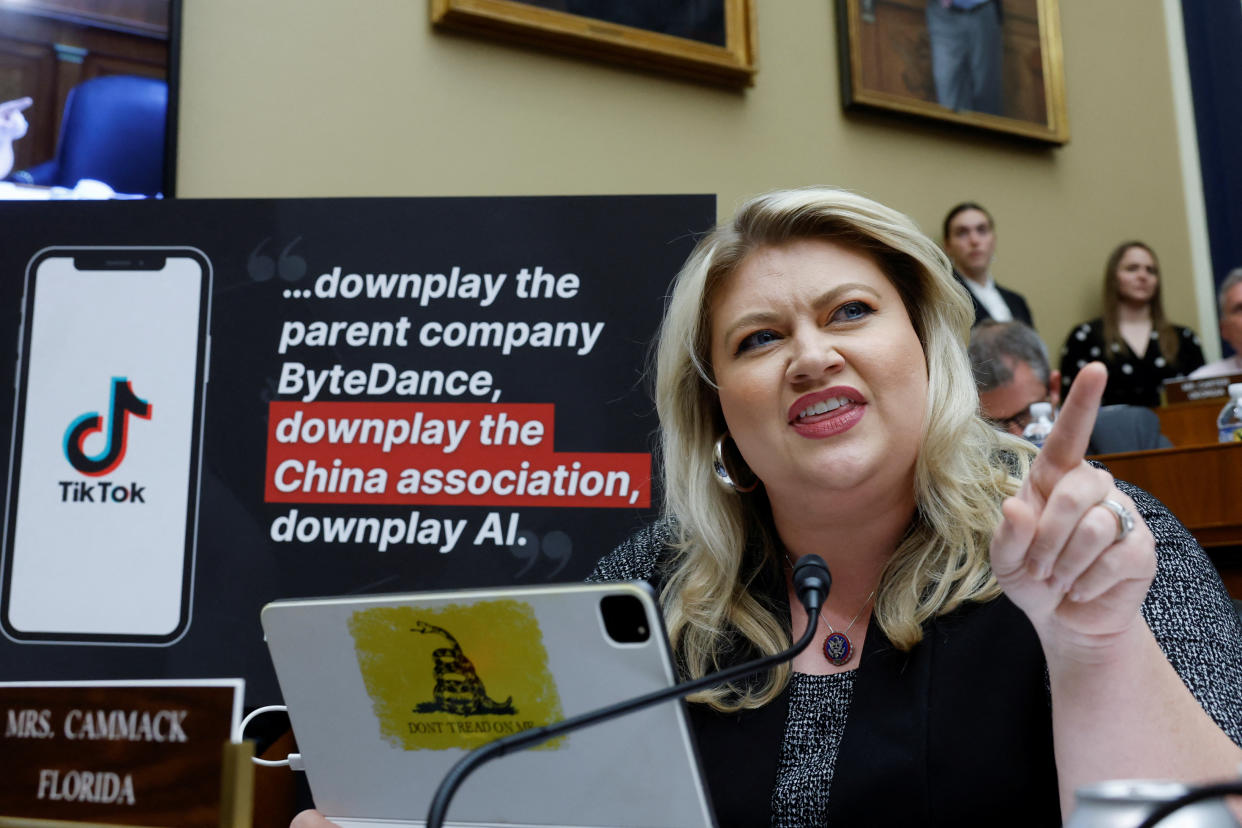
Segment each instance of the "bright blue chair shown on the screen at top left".
M153 196L164 190L168 83L108 74L70 89L56 156L14 178L72 187L82 179L117 192Z

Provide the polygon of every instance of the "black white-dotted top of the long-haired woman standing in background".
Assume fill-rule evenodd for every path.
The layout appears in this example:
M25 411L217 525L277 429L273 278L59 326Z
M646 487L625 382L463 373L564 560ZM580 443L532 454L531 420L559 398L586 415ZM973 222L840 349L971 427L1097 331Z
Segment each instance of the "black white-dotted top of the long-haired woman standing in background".
M1160 334L1155 330L1148 340L1148 349L1136 355L1125 343L1104 343L1104 320L1084 322L1066 336L1061 349L1061 392L1069 392L1078 371L1087 362L1100 360L1108 365L1108 385L1100 405L1146 406L1160 405L1160 386L1165 380L1186 376L1203 364L1203 350L1199 336L1190 328L1174 325L1177 331L1177 356L1169 361L1160 353Z

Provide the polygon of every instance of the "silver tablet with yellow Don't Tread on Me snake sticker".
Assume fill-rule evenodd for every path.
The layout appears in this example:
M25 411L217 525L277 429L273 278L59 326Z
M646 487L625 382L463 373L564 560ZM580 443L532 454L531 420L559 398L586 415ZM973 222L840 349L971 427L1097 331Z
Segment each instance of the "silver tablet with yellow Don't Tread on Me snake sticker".
M277 601L263 633L315 807L422 826L445 773L504 735L673 682L646 583ZM492 760L452 826L714 826L681 700Z

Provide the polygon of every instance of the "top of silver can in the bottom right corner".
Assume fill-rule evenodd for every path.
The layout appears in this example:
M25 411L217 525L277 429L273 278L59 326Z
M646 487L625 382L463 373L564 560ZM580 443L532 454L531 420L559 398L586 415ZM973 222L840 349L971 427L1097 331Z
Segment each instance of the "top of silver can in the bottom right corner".
M1160 804L1189 793L1181 782L1110 780L1074 791L1074 812L1066 828L1138 828ZM1194 802L1160 821L1159 828L1237 828L1220 798Z

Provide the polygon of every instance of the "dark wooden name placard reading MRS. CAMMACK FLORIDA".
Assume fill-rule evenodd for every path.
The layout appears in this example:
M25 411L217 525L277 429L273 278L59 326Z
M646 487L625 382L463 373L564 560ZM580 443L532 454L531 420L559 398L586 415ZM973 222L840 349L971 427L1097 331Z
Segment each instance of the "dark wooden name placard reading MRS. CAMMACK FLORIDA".
M0 683L0 818L215 828L242 686Z

